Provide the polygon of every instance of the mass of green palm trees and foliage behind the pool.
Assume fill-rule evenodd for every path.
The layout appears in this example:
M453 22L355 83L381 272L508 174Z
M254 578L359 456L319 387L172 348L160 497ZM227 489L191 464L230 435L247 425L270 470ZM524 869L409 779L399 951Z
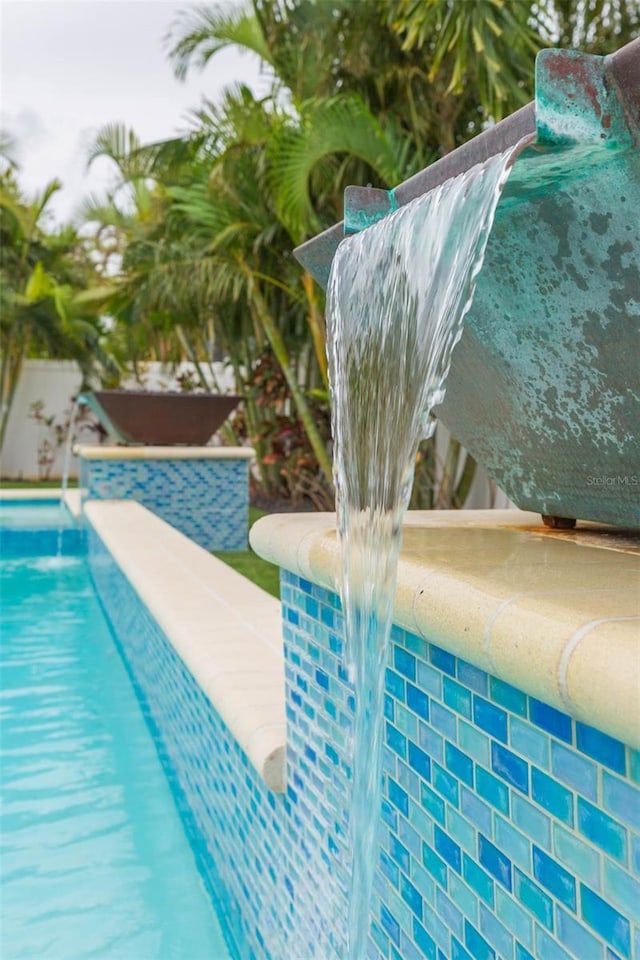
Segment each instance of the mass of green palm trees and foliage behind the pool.
M245 398L227 436L256 446L261 493L330 503L324 296L292 247L341 219L349 183L391 187L529 100L542 47L607 53L639 20L637 0L185 9L166 38L178 77L233 47L258 56L269 92L230 87L162 143L118 124L99 131L88 160L109 158L119 181L85 204L90 263L73 231L40 226L56 184L27 203L5 174L2 306L28 329L23 352L67 355L73 344L69 355L94 358L104 343L95 316L108 308L111 349L134 370L187 358L204 386L225 357ZM12 147L0 140L3 154L7 165ZM433 443L421 448L415 506L464 503L473 462L461 457L455 442L442 464Z

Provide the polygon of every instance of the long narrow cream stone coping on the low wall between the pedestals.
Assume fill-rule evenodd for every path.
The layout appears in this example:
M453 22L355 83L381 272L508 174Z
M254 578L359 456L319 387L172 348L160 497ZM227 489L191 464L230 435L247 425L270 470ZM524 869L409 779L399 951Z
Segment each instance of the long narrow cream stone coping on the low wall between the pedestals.
M266 785L283 792L278 600L139 503L94 500L84 514Z

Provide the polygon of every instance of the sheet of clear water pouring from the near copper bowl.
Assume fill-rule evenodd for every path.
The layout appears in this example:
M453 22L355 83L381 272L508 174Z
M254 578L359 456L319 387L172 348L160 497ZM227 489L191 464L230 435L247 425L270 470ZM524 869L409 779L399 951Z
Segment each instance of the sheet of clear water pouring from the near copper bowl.
M327 307L346 657L355 685L348 958L367 955L402 518L517 148L340 245Z

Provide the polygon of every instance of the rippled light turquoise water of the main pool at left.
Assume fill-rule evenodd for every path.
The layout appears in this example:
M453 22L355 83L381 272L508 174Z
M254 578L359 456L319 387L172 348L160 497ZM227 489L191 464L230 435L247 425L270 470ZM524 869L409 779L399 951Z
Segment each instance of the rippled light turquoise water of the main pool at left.
M82 557L12 555L0 578L0 955L225 960Z

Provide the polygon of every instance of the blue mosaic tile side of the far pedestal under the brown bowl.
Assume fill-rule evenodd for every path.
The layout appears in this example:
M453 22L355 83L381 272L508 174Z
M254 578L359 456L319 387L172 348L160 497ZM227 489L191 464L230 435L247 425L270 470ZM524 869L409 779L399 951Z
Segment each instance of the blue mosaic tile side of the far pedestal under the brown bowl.
M246 459L80 458L80 486L93 500L137 500L206 550L246 550Z

